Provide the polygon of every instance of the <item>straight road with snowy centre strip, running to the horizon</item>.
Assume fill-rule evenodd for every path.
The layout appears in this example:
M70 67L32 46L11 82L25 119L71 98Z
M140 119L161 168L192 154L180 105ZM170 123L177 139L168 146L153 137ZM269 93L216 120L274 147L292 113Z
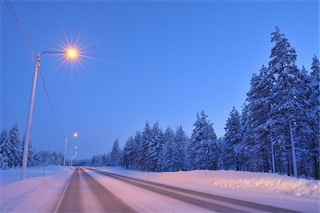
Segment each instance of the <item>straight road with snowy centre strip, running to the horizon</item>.
M55 212L294 211L78 167Z

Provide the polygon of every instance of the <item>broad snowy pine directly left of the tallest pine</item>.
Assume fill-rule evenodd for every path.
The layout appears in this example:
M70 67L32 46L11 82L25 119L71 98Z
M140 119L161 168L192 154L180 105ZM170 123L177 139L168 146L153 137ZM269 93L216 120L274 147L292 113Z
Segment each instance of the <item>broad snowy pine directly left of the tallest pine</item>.
M272 153L272 169L274 163L274 140L272 138L272 82L274 78L262 65L258 75L252 75L250 91L247 92L246 121L242 118L243 143L242 150L250 158L254 171L269 171L268 155Z

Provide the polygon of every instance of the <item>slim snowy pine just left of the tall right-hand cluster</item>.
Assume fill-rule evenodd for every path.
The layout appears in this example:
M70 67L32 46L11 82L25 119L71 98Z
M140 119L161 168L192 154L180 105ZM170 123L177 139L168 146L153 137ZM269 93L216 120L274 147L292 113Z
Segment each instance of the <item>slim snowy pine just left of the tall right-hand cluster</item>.
M242 143L241 132L241 116L239 112L233 107L230 112L227 123L225 124L225 143L227 145L228 158L235 164L236 170L240 170L240 148Z

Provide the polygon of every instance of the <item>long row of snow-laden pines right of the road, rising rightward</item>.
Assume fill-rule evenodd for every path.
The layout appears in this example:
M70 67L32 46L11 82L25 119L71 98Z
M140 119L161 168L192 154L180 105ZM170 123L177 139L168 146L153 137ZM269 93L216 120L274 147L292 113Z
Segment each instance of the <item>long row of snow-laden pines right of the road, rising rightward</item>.
M208 116L197 114L193 133L181 126L162 131L146 122L124 148L80 164L122 165L149 171L245 170L281 173L319 180L319 60L311 72L296 65L297 53L276 26L267 67L252 75L241 114L233 107L225 135L215 136Z

